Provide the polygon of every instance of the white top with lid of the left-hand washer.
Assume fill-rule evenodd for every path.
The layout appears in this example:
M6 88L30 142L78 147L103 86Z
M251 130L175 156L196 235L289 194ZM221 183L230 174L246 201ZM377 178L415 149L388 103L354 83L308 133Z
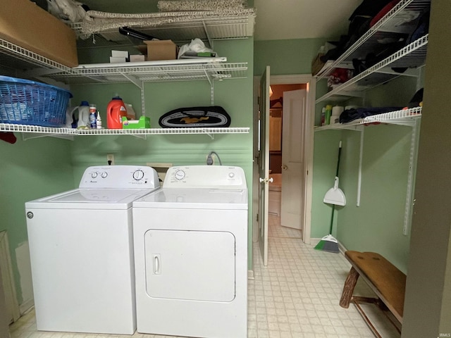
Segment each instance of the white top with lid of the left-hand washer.
M128 209L135 199L155 189L74 189L29 201L26 208Z

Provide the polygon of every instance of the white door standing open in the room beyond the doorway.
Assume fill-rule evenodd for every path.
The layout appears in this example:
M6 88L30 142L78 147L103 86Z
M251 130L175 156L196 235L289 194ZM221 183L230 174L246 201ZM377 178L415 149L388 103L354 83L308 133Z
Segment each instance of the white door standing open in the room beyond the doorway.
M302 230L307 90L283 92L282 205L280 225Z

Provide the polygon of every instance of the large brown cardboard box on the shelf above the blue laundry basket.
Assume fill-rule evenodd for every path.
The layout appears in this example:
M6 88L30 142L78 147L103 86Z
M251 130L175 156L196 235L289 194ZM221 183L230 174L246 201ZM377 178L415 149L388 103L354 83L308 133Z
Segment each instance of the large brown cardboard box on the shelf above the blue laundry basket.
M78 65L75 32L30 0L0 0L0 37L53 61Z

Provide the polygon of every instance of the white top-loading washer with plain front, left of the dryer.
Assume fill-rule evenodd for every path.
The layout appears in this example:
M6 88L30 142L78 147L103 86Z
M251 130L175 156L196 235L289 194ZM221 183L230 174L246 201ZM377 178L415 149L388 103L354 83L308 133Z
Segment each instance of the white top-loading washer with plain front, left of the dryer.
M159 185L147 166L95 166L25 203L37 330L135 332L132 201Z

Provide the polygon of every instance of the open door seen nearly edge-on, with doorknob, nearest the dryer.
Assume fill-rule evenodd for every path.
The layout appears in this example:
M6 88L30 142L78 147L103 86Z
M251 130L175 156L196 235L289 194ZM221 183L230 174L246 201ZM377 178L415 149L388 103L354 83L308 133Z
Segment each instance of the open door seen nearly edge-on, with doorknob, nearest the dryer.
M264 265L268 265L269 81L269 66L266 66L260 80L259 100L259 246Z

